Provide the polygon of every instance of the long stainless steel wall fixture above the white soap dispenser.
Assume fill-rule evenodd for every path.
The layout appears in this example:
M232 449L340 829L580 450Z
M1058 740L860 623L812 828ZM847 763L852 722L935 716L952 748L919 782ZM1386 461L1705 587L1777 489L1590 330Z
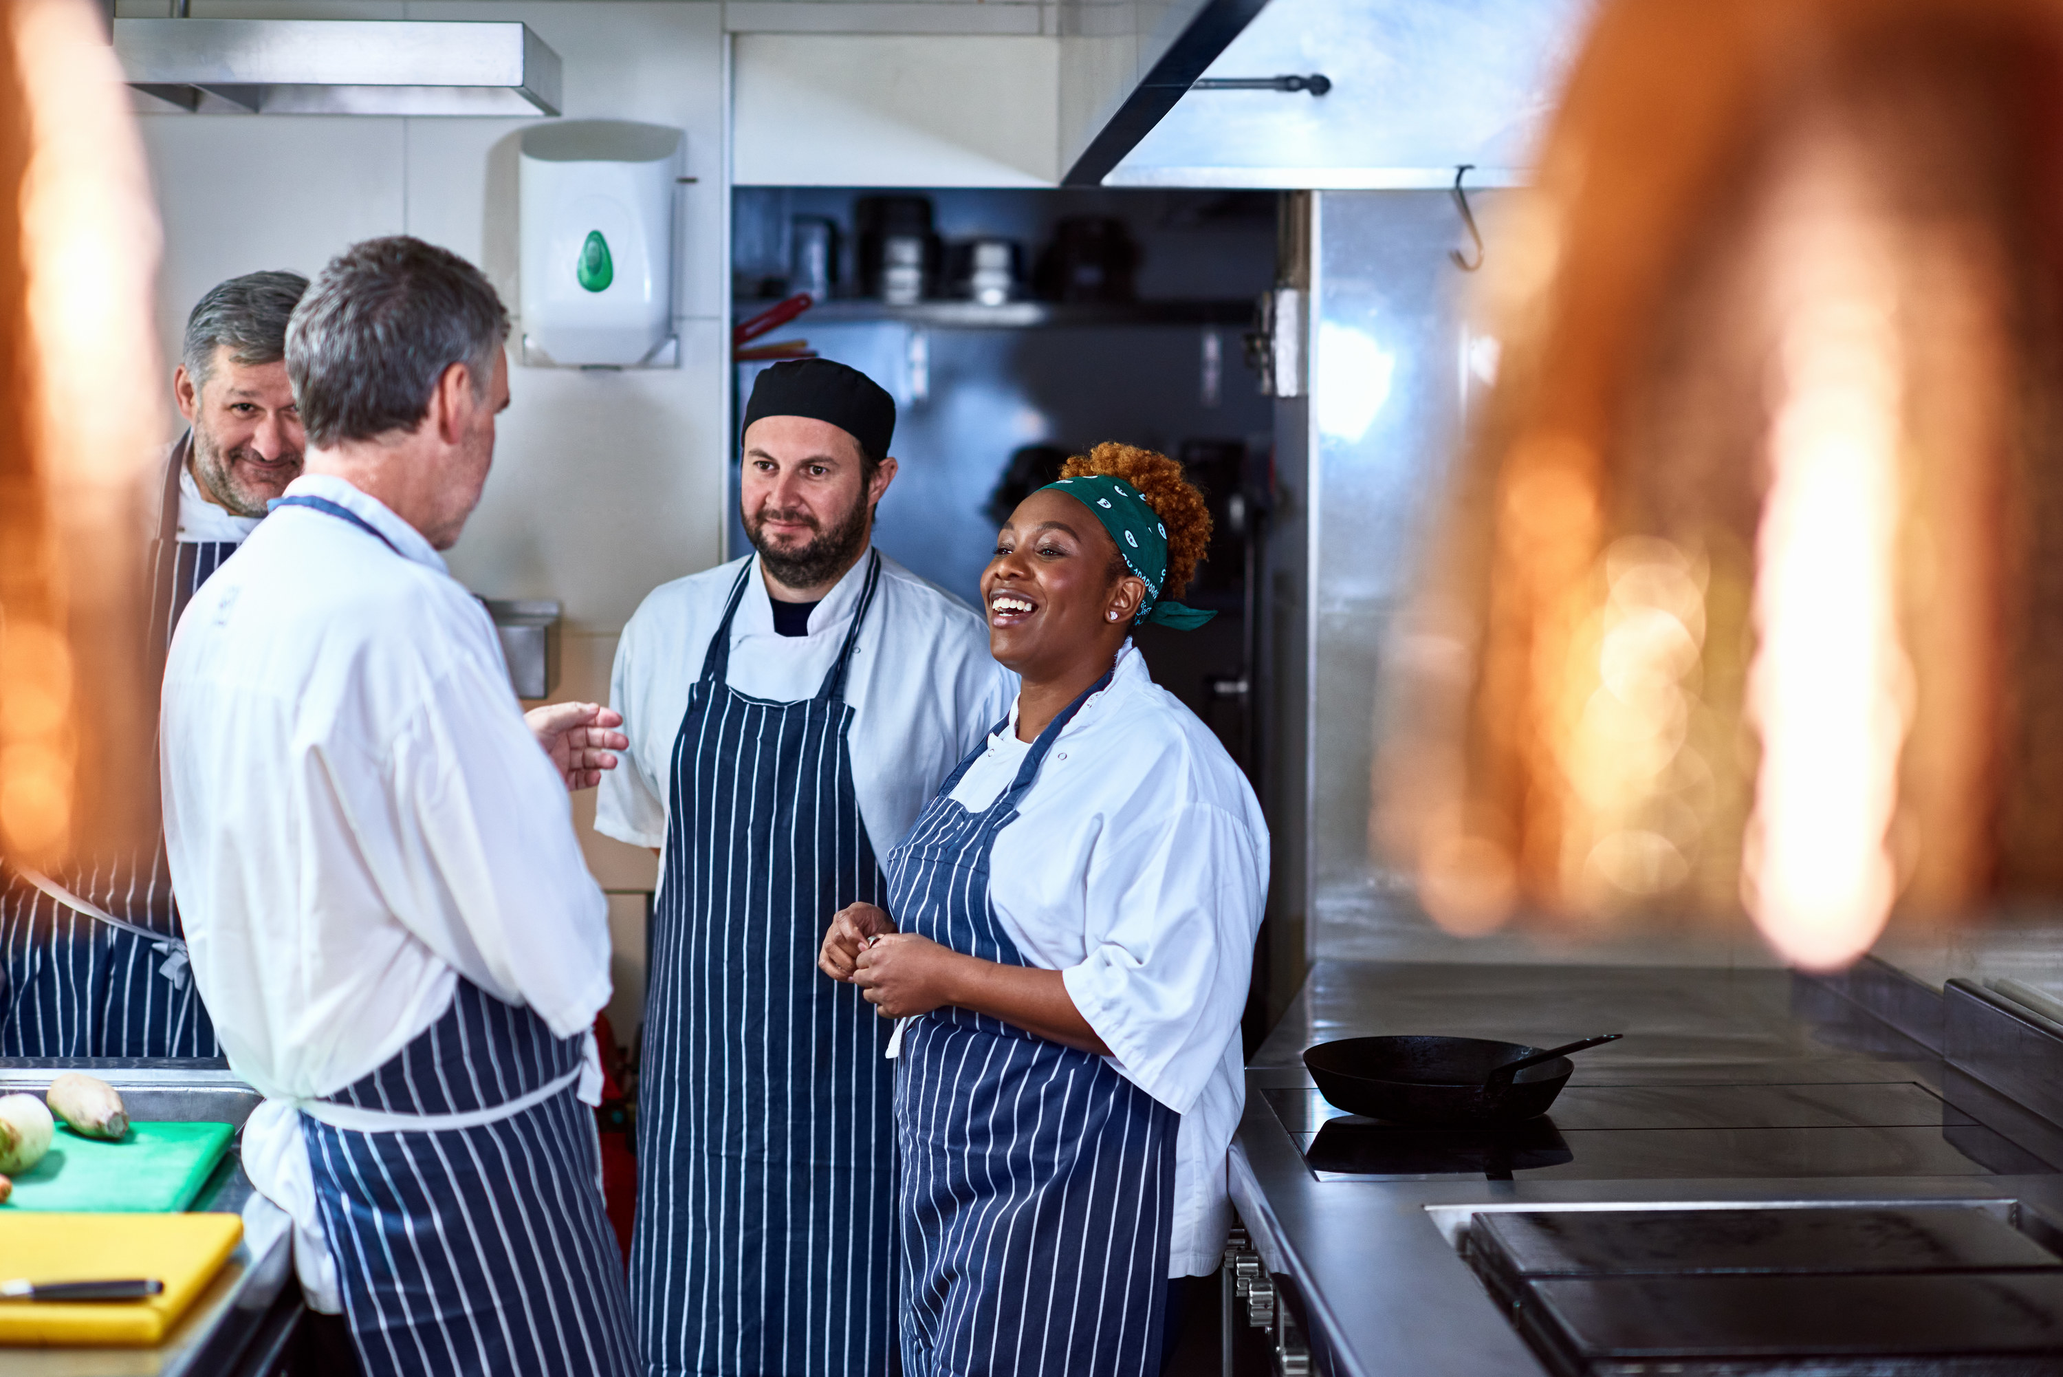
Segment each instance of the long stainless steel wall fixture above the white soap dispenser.
M555 116L559 54L520 23L118 19L128 85L192 111Z

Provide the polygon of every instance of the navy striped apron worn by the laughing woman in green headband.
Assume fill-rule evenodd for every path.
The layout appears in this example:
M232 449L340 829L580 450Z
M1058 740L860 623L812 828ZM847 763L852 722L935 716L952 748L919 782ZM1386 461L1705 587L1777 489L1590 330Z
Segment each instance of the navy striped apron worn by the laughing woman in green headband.
M889 853L902 931L1029 964L988 902L988 855L1060 729L1108 683L1040 733L988 809L951 797L982 751L953 770ZM904 1373L1159 1373L1182 1117L1102 1057L959 1007L910 1020L895 1065Z

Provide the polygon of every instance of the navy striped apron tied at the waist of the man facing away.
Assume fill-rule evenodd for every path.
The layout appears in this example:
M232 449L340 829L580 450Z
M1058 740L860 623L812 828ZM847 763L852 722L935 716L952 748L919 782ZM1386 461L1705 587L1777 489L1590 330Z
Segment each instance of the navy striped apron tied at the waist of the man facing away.
M576 1098L584 1061L584 1034L553 1036L532 1010L460 976L452 1007L386 1065L303 1107L316 1202L367 1377L635 1373L594 1111ZM355 1115L477 1123L361 1131L324 1121Z

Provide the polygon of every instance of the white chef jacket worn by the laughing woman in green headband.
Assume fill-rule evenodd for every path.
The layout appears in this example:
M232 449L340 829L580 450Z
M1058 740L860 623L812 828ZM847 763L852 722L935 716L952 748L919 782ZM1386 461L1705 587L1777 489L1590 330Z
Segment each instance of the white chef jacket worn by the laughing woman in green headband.
M953 787L994 803L1032 749L1017 706ZM1081 704L988 857L988 902L1019 954L1058 970L1112 1065L1182 1115L1170 1276L1219 1263L1225 1152L1246 1104L1240 1014L1269 890L1269 824L1211 729L1131 642Z

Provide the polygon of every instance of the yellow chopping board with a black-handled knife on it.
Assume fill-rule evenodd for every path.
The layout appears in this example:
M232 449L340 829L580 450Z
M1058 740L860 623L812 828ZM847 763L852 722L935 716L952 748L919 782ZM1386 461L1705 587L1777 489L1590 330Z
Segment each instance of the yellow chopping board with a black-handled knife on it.
M0 1214L0 1280L165 1282L149 1301L0 1301L0 1346L161 1344L241 1239L235 1214Z

